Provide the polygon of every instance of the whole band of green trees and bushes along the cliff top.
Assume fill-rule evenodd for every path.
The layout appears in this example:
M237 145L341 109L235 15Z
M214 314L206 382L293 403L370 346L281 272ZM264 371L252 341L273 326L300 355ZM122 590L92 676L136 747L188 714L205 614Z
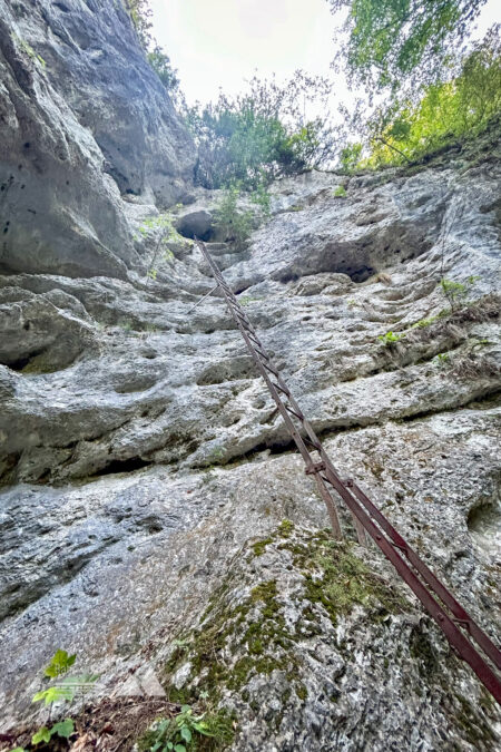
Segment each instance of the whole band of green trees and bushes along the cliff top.
M340 108L341 126L328 113L332 84L301 70L283 86L254 77L238 96L188 107L151 35L149 0L122 1L193 134L195 179L207 188L265 188L335 160L345 174L406 165L480 134L501 111L500 27L466 45L485 0L330 0L334 13L347 10L336 64L366 92L351 111ZM375 108L374 94L384 95ZM323 115L307 117L308 108ZM235 224L245 235L249 217Z

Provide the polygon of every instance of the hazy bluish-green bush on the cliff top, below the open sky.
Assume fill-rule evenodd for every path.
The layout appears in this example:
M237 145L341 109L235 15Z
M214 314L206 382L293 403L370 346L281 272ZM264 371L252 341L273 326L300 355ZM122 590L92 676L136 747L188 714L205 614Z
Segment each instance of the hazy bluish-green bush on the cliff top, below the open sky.
M284 86L254 77L248 90L215 104L187 108L186 121L198 146L196 180L206 188L239 182L246 191L325 164L333 155L333 130L325 118L306 119L304 107L326 107L331 85L296 71Z

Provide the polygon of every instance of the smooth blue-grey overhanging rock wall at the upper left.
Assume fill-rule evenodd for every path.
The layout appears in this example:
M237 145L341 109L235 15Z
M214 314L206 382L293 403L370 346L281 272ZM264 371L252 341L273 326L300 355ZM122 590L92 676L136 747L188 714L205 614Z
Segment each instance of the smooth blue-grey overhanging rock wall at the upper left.
M0 2L0 268L125 277L120 194L186 196L194 146L121 2Z

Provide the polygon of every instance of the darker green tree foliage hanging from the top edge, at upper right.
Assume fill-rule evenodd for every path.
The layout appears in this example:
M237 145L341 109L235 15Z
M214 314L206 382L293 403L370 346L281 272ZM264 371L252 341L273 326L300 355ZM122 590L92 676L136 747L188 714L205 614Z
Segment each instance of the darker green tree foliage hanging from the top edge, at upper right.
M466 39L485 0L328 0L345 7L346 38L335 62L371 94L436 81L451 49Z

